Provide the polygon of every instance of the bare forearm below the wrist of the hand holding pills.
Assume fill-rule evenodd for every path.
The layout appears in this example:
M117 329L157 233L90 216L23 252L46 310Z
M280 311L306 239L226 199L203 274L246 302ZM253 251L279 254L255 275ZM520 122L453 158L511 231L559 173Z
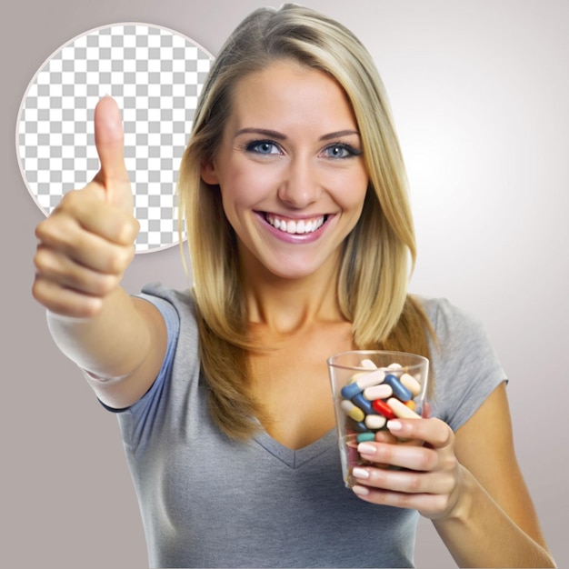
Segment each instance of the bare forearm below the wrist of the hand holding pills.
M463 498L434 527L460 567L555 567L552 556L463 468Z

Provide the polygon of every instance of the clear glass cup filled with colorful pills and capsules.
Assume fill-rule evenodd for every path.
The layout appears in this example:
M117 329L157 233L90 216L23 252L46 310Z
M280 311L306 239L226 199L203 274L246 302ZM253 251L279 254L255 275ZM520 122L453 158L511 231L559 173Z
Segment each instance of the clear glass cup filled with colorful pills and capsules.
M390 418L429 416L429 360L405 352L355 350L335 354L327 364L342 474L351 488L354 466L369 464L357 452L360 442L373 440Z

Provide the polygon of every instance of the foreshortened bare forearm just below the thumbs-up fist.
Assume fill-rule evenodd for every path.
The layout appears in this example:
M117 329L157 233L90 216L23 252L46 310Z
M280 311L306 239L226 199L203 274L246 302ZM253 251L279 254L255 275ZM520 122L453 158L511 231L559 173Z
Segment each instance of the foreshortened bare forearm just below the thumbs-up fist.
M75 319L48 312L47 324L68 358L102 378L132 374L149 349L147 326L134 299L122 288L105 297L96 316Z

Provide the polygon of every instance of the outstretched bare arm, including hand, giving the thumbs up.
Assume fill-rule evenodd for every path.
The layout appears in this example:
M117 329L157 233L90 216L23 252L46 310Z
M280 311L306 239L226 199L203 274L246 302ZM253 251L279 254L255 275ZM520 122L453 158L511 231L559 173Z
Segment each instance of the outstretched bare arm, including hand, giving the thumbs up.
M149 303L120 287L134 257L138 222L115 102L95 109L101 170L64 196L36 228L35 299L48 309L55 344L85 369L111 406L135 403L154 381L165 354L165 324Z

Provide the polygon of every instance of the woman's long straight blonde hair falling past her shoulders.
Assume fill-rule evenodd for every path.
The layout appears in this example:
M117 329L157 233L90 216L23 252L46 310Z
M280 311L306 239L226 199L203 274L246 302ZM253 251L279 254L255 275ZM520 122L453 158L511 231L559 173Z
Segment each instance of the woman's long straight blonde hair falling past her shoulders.
M428 324L407 295L416 255L404 161L374 61L347 29L299 5L260 8L237 26L210 70L183 157L179 195L187 221L210 409L225 433L243 439L262 406L247 393L247 315L235 233L215 186L201 179L231 111L236 83L280 59L324 71L344 88L360 130L370 183L363 213L344 242L338 299L360 348L428 354Z

